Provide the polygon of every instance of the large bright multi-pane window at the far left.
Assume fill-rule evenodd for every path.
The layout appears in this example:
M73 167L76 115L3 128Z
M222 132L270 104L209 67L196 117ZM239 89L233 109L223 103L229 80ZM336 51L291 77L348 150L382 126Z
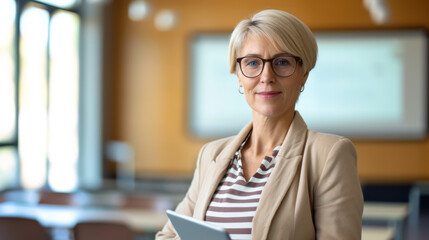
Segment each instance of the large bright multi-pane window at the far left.
M76 0L0 0L0 189L78 186Z

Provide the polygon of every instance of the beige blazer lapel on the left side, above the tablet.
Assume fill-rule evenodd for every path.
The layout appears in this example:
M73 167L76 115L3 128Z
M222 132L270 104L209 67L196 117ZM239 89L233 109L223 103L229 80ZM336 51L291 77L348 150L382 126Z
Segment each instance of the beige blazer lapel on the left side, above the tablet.
M232 141L225 146L220 152L216 159L212 159L208 166L208 173L206 176L202 176L205 181L201 186L201 192L198 201L200 204L195 207L194 217L197 219L204 220L207 208L210 201L215 193L220 181L222 181L228 166L234 158L234 154L246 138L249 131L252 129L252 123L247 124L241 131L235 136Z

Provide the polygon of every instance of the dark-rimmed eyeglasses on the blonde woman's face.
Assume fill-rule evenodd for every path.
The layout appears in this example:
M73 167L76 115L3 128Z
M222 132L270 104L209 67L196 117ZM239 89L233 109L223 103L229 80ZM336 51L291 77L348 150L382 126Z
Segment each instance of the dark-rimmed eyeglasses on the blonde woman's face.
M301 58L290 55L271 59L253 56L237 58L241 73L248 78L255 78L261 75L266 62L271 63L271 69L277 76L289 77L294 74L297 63L301 61Z

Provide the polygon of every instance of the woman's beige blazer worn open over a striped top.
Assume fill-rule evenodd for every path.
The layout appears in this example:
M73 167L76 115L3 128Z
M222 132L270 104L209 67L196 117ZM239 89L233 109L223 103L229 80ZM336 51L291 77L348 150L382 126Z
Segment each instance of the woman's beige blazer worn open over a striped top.
M252 128L206 144L176 211L204 219L230 161ZM262 191L252 239L361 239L363 197L356 151L344 137L307 129L296 112ZM180 239L170 221L156 239Z

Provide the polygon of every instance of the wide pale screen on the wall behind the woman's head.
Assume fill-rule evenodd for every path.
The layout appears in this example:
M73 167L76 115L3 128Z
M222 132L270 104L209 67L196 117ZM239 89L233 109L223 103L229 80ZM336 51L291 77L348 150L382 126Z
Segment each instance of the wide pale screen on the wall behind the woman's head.
M423 139L427 132L424 31L319 32L316 67L296 109L310 129L353 139ZM191 48L189 129L236 134L251 109L228 72L228 34L197 35Z

